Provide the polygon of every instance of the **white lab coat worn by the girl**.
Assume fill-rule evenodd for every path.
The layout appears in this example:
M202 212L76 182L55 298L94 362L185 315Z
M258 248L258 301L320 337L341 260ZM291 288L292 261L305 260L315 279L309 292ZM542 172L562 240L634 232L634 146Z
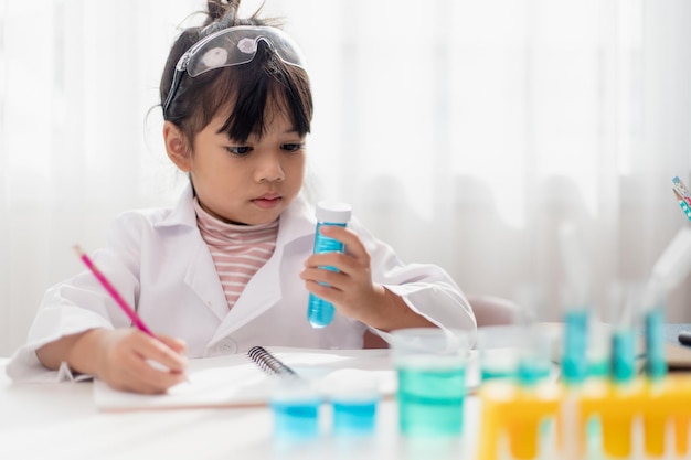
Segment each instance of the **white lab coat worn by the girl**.
M172 208L120 215L110 227L107 248L94 254L96 266L136 306L149 329L184 340L190 357L245 352L253 345L362 347L368 327L359 321L338 312L323 329L312 329L307 321L308 291L299 272L312 252L316 220L302 197L280 216L273 256L230 310L196 227L192 200L191 188L187 188ZM357 220L349 226L370 253L374 282L402 296L411 309L432 322L475 334L472 311L444 270L434 265L404 264ZM15 381L55 379L59 373L39 363L38 347L87 329L130 324L85 270L47 290L28 343L12 356L8 375ZM387 338L384 332L375 332Z

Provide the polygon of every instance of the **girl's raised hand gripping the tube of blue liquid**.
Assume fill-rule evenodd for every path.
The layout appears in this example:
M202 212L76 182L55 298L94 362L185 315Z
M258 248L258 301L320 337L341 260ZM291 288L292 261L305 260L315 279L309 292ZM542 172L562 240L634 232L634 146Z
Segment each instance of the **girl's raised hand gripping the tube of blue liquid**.
M322 235L343 243L346 252L309 256L300 278L307 290L333 303L341 314L371 324L378 315L375 306L381 303L385 289L372 282L370 254L351 229L333 225L320 228ZM339 271L319 268L323 266Z

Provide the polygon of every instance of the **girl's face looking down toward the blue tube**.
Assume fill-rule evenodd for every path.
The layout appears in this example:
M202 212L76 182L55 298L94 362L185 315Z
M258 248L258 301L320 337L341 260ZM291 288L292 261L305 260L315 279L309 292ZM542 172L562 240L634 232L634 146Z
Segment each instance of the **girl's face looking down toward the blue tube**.
M192 152L179 161L189 172L201 206L231 223L257 225L278 218L300 192L305 176L305 138L283 110L267 109L266 132L246 142L219 129L221 114L194 138ZM168 146L168 142L167 142Z

